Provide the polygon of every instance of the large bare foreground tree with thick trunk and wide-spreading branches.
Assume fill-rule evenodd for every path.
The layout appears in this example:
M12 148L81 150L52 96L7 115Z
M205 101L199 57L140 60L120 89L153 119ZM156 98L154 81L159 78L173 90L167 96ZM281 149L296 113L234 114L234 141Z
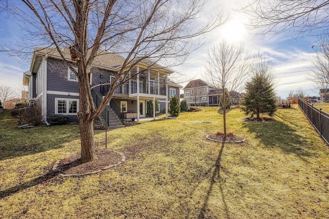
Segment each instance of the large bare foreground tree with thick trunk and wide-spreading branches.
M62 61L77 75L82 162L97 158L93 121L111 101L115 90L129 79L124 71L147 59L153 64L166 59L166 67L177 65L200 45L195 37L222 24L221 13L201 18L205 2L197 0L22 0L0 4L0 9L17 17L26 31L21 45L28 48L21 46L18 51L54 46ZM65 59L61 50L69 46L74 46L78 54L76 63ZM3 50L14 48L7 46ZM104 51L124 56L125 60L112 82L116 86L111 86L95 108L90 91L95 86L89 86L90 74L95 58Z

